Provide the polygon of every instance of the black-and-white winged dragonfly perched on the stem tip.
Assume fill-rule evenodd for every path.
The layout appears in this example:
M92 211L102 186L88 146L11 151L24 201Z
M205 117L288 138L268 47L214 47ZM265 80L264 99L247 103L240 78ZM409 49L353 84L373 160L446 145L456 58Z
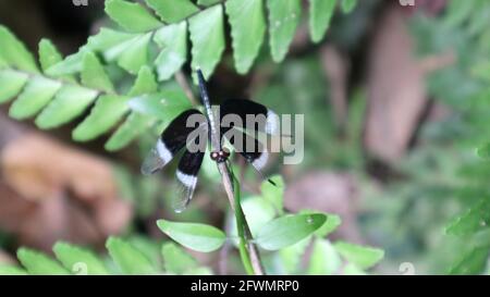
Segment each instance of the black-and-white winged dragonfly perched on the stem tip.
M219 106L217 116L211 109L206 81L200 70L197 70L197 81L205 114L197 109L188 109L175 116L164 128L142 164L143 174L154 174L181 151L184 151L176 170L179 191L172 206L175 212L184 211L193 198L208 144L210 144L209 157L212 161L228 162L230 150L223 147L224 139L226 139L235 151L240 152L264 177L262 169L267 164L269 152L257 137L247 133L247 128L266 135L277 135L279 131L278 115L267 107L252 100L225 100ZM254 122L250 128L249 125L246 125L248 116L255 116L250 119L261 119L262 121ZM226 119L235 121L226 121ZM274 184L272 181L268 181Z

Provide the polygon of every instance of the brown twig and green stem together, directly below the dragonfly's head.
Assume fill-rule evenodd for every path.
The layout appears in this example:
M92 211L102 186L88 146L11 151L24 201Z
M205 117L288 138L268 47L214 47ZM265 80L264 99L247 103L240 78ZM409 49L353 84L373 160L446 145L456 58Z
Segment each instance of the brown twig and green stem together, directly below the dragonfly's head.
M221 174L224 190L230 200L230 206L235 213L236 227L240 237L238 250L243 265L248 274L264 275L265 272L260 261L260 255L257 246L252 242L253 237L250 228L248 227L240 201L240 183L226 163L218 163L218 170Z

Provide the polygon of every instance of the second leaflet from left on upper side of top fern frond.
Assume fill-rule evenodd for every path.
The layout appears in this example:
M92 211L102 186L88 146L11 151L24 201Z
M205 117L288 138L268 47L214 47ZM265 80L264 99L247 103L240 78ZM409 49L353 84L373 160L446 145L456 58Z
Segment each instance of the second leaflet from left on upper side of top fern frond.
M146 0L146 2L167 23L180 22L199 11L189 0Z

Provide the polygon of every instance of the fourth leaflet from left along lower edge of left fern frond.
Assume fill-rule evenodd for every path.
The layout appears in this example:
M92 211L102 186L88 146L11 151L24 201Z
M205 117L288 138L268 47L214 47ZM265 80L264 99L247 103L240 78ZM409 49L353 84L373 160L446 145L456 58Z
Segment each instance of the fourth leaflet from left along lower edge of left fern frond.
M108 132L130 110L127 100L117 95L101 96L90 114L73 131L73 139L88 141Z

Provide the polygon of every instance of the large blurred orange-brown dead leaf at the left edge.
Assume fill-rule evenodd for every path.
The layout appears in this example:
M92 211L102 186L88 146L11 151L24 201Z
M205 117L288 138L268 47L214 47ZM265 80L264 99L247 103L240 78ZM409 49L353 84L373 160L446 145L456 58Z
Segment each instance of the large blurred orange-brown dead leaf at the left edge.
M102 244L131 219L103 159L30 133L3 147L0 165L0 228L22 245Z

